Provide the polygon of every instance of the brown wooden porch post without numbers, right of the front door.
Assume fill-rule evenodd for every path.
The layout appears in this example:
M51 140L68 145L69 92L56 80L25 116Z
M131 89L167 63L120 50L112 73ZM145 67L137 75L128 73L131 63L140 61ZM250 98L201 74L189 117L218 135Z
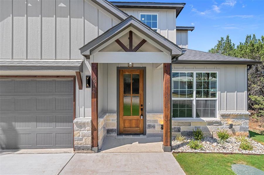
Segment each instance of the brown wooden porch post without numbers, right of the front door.
M170 63L163 63L163 151L171 151L171 69Z

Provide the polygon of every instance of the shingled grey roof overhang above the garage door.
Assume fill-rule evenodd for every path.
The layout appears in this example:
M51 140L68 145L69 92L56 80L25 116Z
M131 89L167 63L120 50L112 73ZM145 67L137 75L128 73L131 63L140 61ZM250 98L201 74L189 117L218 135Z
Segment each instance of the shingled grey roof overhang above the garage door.
M0 71L83 71L83 60L0 60Z

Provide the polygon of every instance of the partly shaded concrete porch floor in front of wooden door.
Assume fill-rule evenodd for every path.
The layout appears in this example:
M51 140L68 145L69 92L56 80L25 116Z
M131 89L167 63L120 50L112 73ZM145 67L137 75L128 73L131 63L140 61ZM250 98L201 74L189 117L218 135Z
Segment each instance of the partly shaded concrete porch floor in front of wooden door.
M163 152L161 137L105 138L100 153Z

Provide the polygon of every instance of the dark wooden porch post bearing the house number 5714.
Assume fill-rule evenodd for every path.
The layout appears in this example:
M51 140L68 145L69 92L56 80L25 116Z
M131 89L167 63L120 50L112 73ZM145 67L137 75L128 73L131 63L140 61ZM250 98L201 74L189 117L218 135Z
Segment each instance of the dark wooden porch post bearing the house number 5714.
M98 152L98 63L92 63L92 101L91 101L91 113L92 113L92 150Z

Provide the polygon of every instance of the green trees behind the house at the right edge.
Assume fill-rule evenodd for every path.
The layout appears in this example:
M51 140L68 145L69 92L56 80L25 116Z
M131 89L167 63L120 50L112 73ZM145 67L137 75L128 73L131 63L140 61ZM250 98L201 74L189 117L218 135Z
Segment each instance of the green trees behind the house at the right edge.
M264 119L264 36L257 39L255 34L247 35L245 42L240 42L235 48L227 35L226 40L221 37L208 52L262 61L262 64L254 65L248 71L248 109L257 112L255 117Z

